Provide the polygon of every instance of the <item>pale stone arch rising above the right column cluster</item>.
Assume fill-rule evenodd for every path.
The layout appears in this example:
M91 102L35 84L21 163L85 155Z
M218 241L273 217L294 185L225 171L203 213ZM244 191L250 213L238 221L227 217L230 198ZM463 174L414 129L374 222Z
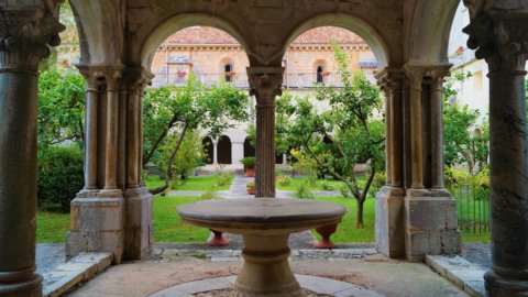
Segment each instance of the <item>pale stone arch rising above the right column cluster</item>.
M459 2L418 1L406 32L405 53L409 64L449 64L449 37Z

